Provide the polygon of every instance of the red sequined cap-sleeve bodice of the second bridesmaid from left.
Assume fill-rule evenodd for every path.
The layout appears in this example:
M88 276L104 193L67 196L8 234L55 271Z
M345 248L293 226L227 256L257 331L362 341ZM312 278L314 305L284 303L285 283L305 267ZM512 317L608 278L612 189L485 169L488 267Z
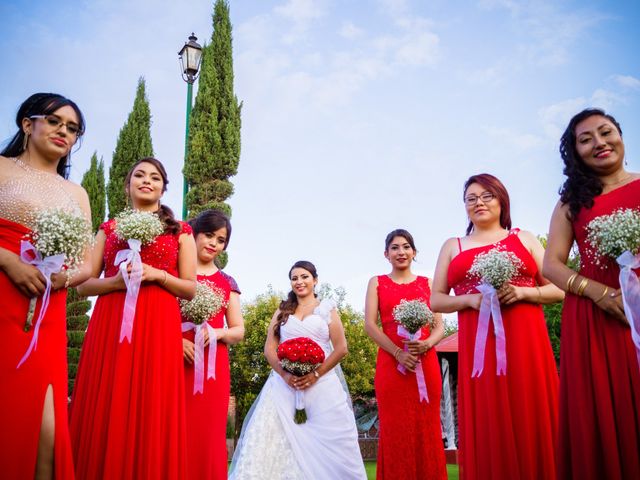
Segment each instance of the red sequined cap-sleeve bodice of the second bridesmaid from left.
M117 237L114 231L115 225L115 220L109 220L100 226L100 229L103 230L107 236L103 256L105 277L113 277L118 273L118 267L113 264L116 255L120 250L129 248L126 241L120 240ZM192 233L189 224L180 222L180 225L182 227L180 233L176 235L165 233L156 237L152 243L143 245L140 250L142 263L165 270L171 275L177 275L179 237L183 233L189 235Z

